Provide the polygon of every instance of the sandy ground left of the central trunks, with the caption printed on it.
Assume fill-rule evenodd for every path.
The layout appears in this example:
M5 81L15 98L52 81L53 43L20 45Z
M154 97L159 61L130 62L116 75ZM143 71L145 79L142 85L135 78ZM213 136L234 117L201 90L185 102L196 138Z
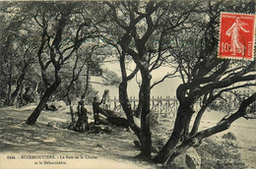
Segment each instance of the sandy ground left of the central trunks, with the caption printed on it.
M135 159L139 150L134 147L135 136L122 128L111 135L80 134L48 127L49 122L70 119L68 114L43 111L35 126L25 125L31 108L0 110L0 169L155 169L156 164ZM8 160L7 155L16 156ZM22 159L21 155L54 155L54 159ZM84 156L79 159L60 159L62 156ZM88 158L89 157L89 158ZM65 165L35 165L34 162L66 162Z

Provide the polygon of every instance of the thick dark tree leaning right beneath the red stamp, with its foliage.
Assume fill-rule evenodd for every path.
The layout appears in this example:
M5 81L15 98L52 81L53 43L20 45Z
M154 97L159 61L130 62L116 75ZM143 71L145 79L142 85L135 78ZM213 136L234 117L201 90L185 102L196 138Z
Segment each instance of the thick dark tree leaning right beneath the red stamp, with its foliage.
M253 8L252 8L253 7ZM186 31L171 34L172 58L178 65L182 84L177 87L179 102L173 131L169 140L155 157L155 161L169 163L180 153L203 139L228 129L232 122L250 113L255 93L241 101L238 110L210 129L199 131L206 108L227 91L255 85L255 61L223 60L218 58L219 20L222 11L254 13L252 1L209 1L194 13ZM197 112L196 102L202 101ZM192 115L196 114L192 131Z

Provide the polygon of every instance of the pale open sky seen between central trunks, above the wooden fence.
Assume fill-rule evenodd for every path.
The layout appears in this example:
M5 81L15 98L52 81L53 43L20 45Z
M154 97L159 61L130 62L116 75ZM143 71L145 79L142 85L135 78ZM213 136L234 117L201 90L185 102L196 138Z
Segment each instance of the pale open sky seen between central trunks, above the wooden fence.
M102 65L102 68L107 69L109 71L113 71L117 74L118 77L121 77L121 70L118 60L116 62L107 62ZM126 65L127 74L131 72L130 70L133 70L135 68L134 63L129 63ZM169 67L160 67L157 70L154 70L152 74L152 81L151 84L154 84L154 82L160 81L162 77L164 77L167 73L172 72L172 68ZM140 80L140 74L138 73L137 80L141 82ZM98 78L94 78L94 82L100 81ZM179 84L181 84L182 81L180 78L172 78L172 79L165 79L162 83L154 86L154 88L151 91L151 97L166 97L169 96L171 98L176 97L176 88ZM99 98L102 96L104 89L109 89L109 95L110 98L113 99L114 97L118 98L118 86L115 85L103 85L103 84L92 84L93 87L98 91ZM128 82L128 96L129 97L139 97L139 86L136 82L136 77Z

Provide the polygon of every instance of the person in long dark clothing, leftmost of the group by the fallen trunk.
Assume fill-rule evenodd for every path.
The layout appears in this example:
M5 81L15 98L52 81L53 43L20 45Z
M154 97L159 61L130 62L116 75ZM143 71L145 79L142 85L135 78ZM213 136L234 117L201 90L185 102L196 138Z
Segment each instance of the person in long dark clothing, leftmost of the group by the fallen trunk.
M88 125L88 116L87 116L87 109L85 108L85 103L83 100L79 101L78 109L80 112L78 112L79 118L76 124L76 130L78 132L85 132L89 130Z

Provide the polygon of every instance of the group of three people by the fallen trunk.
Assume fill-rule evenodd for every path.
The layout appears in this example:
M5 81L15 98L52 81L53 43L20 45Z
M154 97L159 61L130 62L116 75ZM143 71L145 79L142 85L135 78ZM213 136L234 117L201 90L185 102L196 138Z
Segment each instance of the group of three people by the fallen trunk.
M94 119L95 125L99 125L99 113L101 108L99 107L102 104L102 108L109 109L110 108L110 97L109 97L109 90L105 89L102 95L102 99L98 101L97 96L94 97L93 102L93 110L94 110ZM78 103L78 121L76 123L75 130L78 132L85 132L89 130L89 123L88 123L88 110L85 108L85 101L80 100Z

